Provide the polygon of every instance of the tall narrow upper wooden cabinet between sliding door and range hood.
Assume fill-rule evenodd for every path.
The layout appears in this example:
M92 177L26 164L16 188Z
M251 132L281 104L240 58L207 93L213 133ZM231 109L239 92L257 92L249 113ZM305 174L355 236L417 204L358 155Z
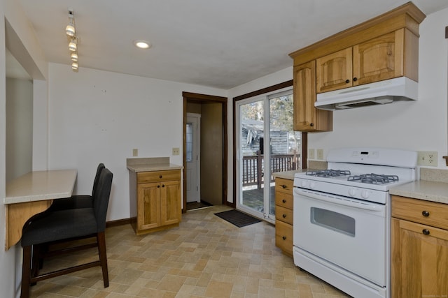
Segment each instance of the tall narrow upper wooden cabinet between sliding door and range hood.
M294 66L294 130L331 131L332 112L318 110L316 101L316 61Z

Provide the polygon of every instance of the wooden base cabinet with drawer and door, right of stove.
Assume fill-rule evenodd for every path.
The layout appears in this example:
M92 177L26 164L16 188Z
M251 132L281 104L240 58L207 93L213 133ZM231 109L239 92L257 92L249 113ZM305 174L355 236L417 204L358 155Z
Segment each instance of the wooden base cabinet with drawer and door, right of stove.
M391 297L448 296L447 212L446 204L392 196Z

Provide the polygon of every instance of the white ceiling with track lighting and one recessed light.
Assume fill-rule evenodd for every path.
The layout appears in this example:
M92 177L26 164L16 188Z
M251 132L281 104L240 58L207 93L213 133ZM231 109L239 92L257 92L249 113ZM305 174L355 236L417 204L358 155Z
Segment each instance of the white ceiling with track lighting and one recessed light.
M69 67L72 9L83 67L230 89L292 66L290 52L407 0L20 0L49 62ZM415 0L429 15L447 0ZM424 22L424 21L423 21ZM152 43L149 50L133 40Z

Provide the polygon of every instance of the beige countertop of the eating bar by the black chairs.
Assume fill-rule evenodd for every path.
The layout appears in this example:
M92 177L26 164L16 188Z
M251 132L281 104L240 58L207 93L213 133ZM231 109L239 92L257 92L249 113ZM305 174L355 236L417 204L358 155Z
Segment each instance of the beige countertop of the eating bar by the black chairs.
M70 198L76 170L29 172L6 184L5 204Z

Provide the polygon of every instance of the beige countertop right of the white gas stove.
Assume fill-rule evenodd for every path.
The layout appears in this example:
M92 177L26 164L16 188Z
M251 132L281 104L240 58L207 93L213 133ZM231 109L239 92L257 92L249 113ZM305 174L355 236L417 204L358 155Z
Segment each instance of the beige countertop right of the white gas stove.
M448 183L419 180L390 189L391 195L448 204Z

